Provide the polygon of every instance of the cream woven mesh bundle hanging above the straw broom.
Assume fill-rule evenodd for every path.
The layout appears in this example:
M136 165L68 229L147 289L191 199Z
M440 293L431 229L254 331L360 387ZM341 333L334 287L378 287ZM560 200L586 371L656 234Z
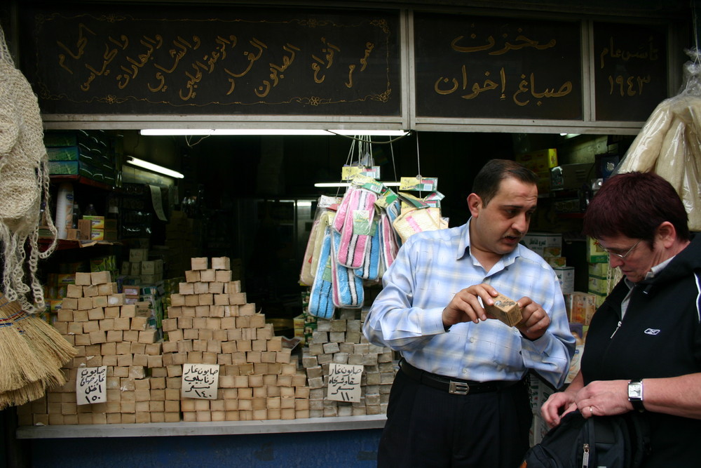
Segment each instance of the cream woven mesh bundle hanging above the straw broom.
M2 286L8 299L17 300L28 312L45 307L36 270L39 259L47 258L56 245L56 227L48 211L49 182L39 104L29 82L15 68L0 27ZM46 210L44 219L39 219L42 202ZM53 241L43 252L39 249L40 225L53 234Z

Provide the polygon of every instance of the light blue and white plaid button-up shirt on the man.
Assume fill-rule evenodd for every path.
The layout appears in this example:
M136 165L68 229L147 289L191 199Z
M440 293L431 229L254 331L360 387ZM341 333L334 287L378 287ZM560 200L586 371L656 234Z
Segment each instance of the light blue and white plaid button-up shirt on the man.
M400 352L413 366L465 380L520 380L533 369L563 385L575 340L564 297L547 262L519 244L486 272L470 255L470 222L414 234L382 278L363 333L374 345ZM498 320L456 323L446 332L443 309L463 288L489 283L513 300L530 297L550 316L537 340Z

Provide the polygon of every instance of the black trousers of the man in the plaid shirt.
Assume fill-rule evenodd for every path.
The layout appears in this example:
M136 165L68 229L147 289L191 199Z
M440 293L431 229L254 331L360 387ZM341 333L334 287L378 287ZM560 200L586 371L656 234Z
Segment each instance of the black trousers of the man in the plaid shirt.
M525 383L451 395L400 370L387 408L377 466L517 468L533 414Z

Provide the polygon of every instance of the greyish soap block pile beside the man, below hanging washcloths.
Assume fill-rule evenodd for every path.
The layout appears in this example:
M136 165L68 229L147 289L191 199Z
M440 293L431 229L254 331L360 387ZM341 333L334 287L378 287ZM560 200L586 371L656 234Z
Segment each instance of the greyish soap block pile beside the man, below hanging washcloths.
M387 412L397 366L388 347L372 345L362 334L367 310L341 309L339 319L318 319L302 354L310 388L310 417L376 415ZM329 364L362 365L360 402L327 399Z

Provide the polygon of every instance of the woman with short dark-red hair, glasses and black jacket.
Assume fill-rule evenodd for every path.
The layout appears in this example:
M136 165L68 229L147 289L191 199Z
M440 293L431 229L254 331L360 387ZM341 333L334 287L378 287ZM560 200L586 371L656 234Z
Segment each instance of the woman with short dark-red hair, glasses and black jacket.
M542 408L551 426L576 409L585 417L640 412L651 428L646 468L699 466L701 236L687 222L658 175L604 182L584 232L624 277L592 318L580 373Z

